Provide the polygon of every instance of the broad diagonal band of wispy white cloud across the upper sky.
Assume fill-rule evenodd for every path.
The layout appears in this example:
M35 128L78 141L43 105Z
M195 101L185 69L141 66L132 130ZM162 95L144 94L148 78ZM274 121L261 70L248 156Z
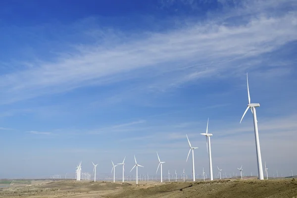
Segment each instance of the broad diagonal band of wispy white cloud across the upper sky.
M121 42L112 47L104 43L77 47L76 52L66 56L61 53L55 61L39 62L38 66L2 75L0 94L4 97L0 102L140 77L144 79L143 87L164 90L218 73L257 69L258 64L251 64L253 58L297 40L296 11L272 15L265 9L271 5L263 2L260 5L257 12L243 6L222 15L230 18L238 10L251 13L242 16L242 23L222 23L210 17L178 29L146 33L136 39L119 37ZM239 68L238 61L247 58L247 64L241 63Z

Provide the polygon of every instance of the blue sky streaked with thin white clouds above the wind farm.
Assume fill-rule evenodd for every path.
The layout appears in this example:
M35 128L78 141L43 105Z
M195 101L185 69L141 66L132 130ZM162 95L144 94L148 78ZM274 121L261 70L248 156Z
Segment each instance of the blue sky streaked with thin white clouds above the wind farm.
M247 73L263 166L297 174L296 0L2 0L0 44L0 178L191 175L186 134L209 175L208 118L214 174L256 175Z

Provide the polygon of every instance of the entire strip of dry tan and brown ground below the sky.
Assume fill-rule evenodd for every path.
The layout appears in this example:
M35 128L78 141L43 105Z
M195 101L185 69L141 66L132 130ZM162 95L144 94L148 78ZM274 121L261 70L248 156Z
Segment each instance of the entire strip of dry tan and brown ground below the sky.
M297 180L205 182L32 181L0 189L0 198L297 198Z

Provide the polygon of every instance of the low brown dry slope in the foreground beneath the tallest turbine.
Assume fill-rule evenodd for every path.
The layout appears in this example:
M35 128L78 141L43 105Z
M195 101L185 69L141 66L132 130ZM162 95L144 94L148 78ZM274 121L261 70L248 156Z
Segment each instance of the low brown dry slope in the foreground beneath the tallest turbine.
M291 180L164 183L132 185L105 198L297 198L297 182Z

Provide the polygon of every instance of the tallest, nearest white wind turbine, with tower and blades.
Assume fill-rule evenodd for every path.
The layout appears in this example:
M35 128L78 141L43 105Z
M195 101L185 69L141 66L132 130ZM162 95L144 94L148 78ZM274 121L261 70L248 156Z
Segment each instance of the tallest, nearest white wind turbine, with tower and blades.
M240 120L240 123L242 122L243 118L245 117L247 110L250 108L251 113L253 114L253 122L254 122L254 131L255 131L255 142L256 142L256 152L257 152L257 162L258 162L258 175L259 179L263 180L263 168L262 168L262 158L261 158L261 150L260 150L260 143L259 143L259 133L258 133L258 124L257 124L257 115L256 115L256 108L260 106L259 103L250 103L250 97L249 97L249 90L248 90L248 79L247 79L247 97L248 97L248 104L247 109Z

